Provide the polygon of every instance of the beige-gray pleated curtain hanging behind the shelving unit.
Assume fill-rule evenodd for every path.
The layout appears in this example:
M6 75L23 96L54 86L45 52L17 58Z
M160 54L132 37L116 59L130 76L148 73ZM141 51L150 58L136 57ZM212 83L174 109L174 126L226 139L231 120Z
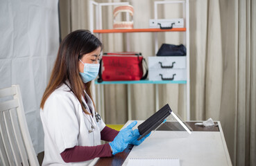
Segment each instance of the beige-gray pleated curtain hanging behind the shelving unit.
M148 20L153 19L153 1L128 2L135 10L135 28L147 28ZM189 4L191 120L220 120L233 165L255 165L256 2L190 0ZM88 1L60 1L62 37L76 29L89 29L87 9ZM103 28L112 28L112 9L103 10ZM158 10L158 17L163 19L182 14L179 6L162 6ZM146 59L155 52L152 33L102 37L104 52L128 50L126 37L133 41L130 50L142 52ZM158 39L172 44L183 41L180 33L158 33ZM168 102L173 111L185 118L185 91L181 84L160 85L160 107ZM128 120L127 95L127 85L104 85L106 123L123 124ZM155 112L155 85L131 85L130 95L134 120L144 120Z

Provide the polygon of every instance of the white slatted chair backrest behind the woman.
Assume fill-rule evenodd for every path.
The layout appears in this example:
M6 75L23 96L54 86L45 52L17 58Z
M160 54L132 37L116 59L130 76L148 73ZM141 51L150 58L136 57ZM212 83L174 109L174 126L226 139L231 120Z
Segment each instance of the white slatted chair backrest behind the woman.
M19 85L0 89L0 165L39 166Z

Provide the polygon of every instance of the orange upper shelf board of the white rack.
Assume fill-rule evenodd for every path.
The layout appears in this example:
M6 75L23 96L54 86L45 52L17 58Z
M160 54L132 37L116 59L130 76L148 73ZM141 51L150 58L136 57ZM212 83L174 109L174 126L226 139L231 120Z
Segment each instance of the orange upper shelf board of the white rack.
M172 29L160 29L160 28L145 28L145 29L105 29L94 30L94 33L154 33L154 32L180 32L186 31L186 28L172 28Z

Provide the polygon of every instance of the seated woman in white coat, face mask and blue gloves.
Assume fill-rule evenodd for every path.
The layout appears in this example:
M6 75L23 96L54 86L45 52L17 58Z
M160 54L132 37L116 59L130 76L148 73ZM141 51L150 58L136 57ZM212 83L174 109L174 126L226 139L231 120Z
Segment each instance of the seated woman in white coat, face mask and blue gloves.
M139 145L131 123L121 131L106 127L90 90L99 73L102 44L88 30L63 39L40 104L44 127L42 165L89 165L93 158L117 154L128 144ZM101 145L101 140L109 143Z

